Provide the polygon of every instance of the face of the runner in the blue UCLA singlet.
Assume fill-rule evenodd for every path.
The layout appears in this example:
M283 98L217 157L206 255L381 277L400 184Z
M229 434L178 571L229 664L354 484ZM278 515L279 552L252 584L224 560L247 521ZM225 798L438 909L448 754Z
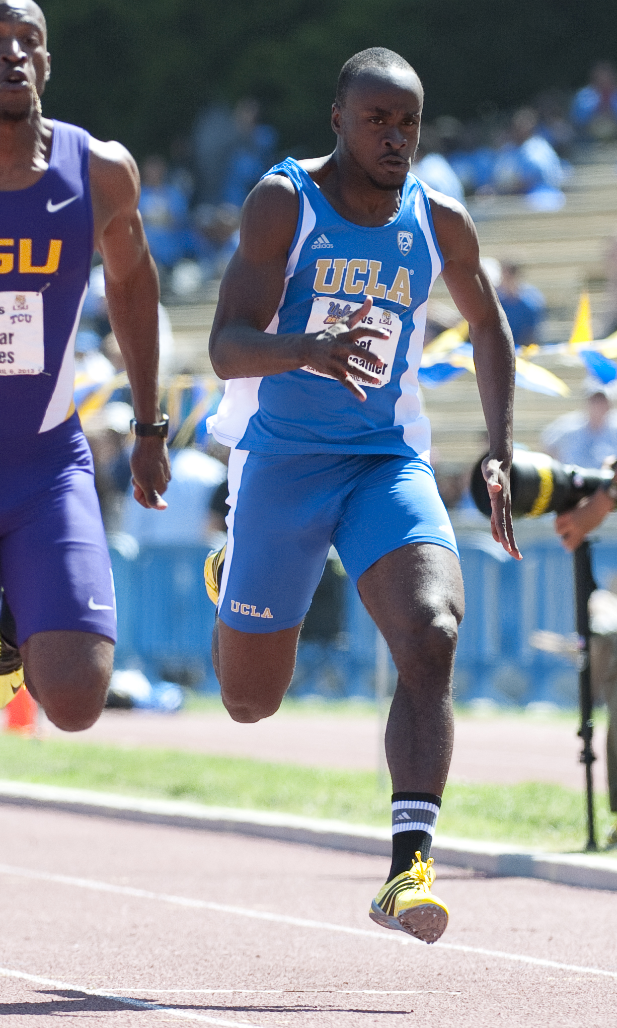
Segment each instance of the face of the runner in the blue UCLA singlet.
M358 75L344 103L333 106L339 149L378 189L399 189L420 135L424 94L413 71L387 69Z

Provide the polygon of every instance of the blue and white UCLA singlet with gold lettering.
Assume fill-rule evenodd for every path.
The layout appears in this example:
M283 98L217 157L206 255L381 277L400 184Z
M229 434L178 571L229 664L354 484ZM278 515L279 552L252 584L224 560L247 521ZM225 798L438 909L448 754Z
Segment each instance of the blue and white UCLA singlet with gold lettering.
M278 310L268 332L320 332L356 310L368 295L367 323L389 340L359 341L357 362L381 377L365 382L360 403L341 382L311 368L226 382L208 431L219 442L257 453L392 453L428 460L430 425L421 409L418 368L426 307L444 267L430 206L409 174L400 208L387 225L367 228L337 214L298 161L287 157L268 175L286 175L300 198ZM371 351L385 361L381 371Z

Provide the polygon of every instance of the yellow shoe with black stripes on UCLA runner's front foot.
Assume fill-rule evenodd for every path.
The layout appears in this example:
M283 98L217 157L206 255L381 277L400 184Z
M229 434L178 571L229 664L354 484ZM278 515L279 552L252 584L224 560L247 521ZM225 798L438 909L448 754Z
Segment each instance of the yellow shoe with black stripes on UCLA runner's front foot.
M419 852L416 857L409 871L379 890L369 917L384 928L398 928L423 943L436 943L448 927L448 907L430 891L435 880L432 857L426 864Z

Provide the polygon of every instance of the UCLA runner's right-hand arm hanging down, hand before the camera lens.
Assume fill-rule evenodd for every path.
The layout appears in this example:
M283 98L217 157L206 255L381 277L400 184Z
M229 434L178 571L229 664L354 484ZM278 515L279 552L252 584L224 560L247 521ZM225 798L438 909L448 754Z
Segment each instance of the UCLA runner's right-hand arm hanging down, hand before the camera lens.
M495 290L479 263L475 226L456 200L428 190L442 277L450 294L469 323L477 388L489 431L489 456L483 464L491 497L493 538L520 559L510 509L514 342Z

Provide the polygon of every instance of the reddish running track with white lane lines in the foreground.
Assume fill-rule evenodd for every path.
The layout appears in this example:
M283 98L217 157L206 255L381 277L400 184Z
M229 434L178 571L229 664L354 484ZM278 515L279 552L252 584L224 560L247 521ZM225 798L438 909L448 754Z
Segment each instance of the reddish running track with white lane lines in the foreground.
M612 893L437 869L451 923L427 947L369 920L379 857L9 806L0 819L10 1028L615 1024Z

